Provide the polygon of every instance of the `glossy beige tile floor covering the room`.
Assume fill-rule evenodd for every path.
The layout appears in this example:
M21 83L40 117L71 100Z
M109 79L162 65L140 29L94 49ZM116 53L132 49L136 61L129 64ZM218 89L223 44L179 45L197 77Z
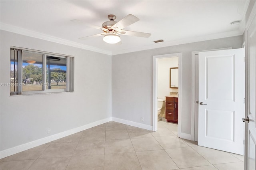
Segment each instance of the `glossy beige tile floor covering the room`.
M0 160L1 170L243 170L244 156L197 146L158 122L152 132L108 122Z

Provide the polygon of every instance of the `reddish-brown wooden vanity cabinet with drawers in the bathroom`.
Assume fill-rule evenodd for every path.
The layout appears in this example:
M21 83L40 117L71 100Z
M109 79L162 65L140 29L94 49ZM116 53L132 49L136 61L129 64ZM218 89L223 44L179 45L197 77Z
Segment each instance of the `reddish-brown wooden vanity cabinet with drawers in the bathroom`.
M167 122L178 123L178 97L166 97L165 119Z

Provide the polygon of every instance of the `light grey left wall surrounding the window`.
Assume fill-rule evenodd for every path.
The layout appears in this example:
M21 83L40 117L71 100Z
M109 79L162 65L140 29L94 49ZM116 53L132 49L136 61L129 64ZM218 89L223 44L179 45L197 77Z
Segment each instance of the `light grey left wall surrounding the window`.
M75 57L74 92L10 96L0 87L0 150L111 120L111 56L1 31L0 83L10 82L10 46ZM47 127L51 133L47 134Z

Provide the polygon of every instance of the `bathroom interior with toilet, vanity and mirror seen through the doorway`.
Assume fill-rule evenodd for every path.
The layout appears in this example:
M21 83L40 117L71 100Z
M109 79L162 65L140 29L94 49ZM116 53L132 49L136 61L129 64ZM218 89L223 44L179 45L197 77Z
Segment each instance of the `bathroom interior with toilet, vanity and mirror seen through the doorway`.
M178 59L157 59L158 122L178 124Z

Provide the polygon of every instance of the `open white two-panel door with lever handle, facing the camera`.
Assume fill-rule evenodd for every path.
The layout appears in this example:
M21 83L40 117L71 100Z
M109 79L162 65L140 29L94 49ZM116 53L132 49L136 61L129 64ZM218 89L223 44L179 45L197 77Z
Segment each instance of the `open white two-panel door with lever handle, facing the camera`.
M244 49L199 53L198 145L244 154Z

